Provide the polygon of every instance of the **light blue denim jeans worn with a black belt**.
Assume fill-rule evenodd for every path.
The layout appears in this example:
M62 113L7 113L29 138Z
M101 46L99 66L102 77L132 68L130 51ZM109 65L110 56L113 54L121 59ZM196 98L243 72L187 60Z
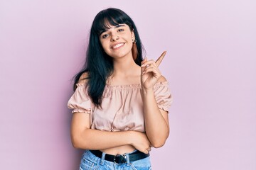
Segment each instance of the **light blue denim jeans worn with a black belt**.
M102 158L99 158L89 150L85 150L85 153L82 154L80 170L151 170L149 157L134 162L129 162L129 157L127 157L127 163L123 164L114 164L114 162L106 161L104 158L104 152Z

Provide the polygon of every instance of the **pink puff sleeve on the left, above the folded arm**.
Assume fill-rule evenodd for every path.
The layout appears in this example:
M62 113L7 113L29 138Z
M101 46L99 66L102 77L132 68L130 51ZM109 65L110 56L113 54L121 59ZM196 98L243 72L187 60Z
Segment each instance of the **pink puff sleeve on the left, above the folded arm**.
M77 89L68 101L68 108L73 109L72 113L91 113L92 101L87 94L85 84L76 84Z

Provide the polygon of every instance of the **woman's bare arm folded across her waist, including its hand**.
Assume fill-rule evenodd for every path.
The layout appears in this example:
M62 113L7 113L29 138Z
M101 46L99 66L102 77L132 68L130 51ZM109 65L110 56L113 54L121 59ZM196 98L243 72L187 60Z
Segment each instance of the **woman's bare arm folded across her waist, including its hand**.
M141 152L148 153L150 146L143 132L106 132L90 129L90 114L74 113L71 123L73 146L80 149L109 149L123 145L132 145Z

